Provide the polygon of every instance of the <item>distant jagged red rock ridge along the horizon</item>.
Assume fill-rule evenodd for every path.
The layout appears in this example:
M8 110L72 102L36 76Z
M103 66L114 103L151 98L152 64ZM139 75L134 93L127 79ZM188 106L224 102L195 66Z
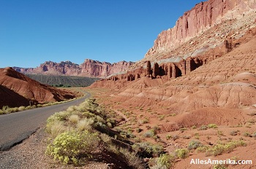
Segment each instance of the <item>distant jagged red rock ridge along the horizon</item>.
M82 64L72 63L70 61L61 61L56 63L46 61L37 68L13 67L15 71L23 74L50 74L50 75L68 75L68 76L88 76L105 77L111 74L117 74L120 71L127 71L133 62L120 61L118 63L100 62L98 60L86 59Z

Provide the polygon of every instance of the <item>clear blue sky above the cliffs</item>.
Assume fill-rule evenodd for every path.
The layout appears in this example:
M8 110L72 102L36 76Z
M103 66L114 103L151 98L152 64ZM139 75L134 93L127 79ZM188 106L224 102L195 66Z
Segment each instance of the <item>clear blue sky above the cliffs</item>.
M203 0L0 0L0 68L137 61Z

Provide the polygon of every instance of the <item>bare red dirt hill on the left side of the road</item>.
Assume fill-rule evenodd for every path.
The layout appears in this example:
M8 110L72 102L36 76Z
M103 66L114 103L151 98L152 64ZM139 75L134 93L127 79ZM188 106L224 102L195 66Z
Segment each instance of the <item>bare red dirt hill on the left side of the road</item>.
M75 98L75 94L59 90L29 79L12 68L0 68L0 108L2 106L28 106Z

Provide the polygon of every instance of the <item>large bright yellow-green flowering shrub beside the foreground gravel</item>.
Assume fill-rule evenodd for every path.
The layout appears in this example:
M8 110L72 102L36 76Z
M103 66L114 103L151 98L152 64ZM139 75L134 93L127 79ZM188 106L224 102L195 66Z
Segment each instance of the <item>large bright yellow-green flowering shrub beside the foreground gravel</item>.
M46 153L64 164L78 164L80 157L90 157L98 144L97 133L68 131L58 135L53 143L48 145Z

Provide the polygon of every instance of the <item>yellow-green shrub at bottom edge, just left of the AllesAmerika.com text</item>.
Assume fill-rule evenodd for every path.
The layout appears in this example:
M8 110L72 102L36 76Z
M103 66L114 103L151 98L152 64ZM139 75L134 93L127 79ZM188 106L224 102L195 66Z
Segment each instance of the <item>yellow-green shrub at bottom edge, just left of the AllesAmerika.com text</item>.
M175 161L175 157L171 154L161 154L160 157L157 158L157 166L158 168L170 168Z

